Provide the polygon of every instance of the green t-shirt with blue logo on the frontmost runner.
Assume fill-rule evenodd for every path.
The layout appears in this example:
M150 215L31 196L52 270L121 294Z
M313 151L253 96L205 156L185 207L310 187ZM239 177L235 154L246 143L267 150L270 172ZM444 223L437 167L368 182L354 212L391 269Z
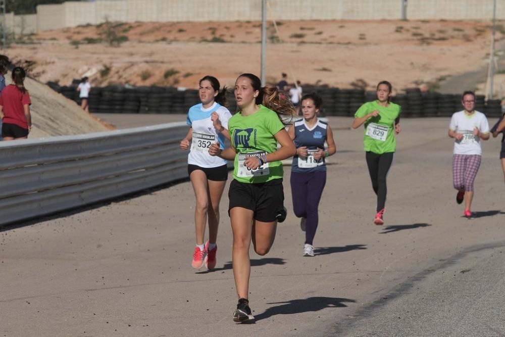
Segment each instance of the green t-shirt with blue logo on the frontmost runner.
M243 166L245 154L261 155L276 151L277 140L274 134L284 128L274 111L262 105L259 107L252 115L242 116L242 113L238 112L228 120L231 143L238 151L235 155L233 178L240 182L267 182L283 176L280 161L264 164L255 171L247 170Z

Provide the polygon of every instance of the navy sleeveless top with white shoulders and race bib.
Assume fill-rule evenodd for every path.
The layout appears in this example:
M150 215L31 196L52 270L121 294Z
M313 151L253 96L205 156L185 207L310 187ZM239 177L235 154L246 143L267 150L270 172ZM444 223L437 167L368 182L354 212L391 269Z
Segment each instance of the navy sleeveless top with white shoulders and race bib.
M305 124L305 119L300 119L294 122L294 146L297 149L299 147L307 147L308 156L304 159L298 158L297 155L294 156L293 163L291 164L292 172L307 173L326 171L326 162L324 157L319 161L316 161L312 154L318 149L324 150L327 126L327 123L319 119L317 120L316 125L312 128Z

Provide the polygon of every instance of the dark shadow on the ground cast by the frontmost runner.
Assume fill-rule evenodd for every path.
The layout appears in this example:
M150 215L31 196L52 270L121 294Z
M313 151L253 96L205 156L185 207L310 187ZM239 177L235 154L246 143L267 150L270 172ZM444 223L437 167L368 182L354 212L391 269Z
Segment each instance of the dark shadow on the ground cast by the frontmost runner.
M259 321L275 315L292 315L302 312L319 311L325 308L344 308L344 303L356 303L355 300L333 298L333 297L310 297L304 300L291 300L288 302L274 302L268 304L280 304L268 308L265 312L254 315L255 320Z

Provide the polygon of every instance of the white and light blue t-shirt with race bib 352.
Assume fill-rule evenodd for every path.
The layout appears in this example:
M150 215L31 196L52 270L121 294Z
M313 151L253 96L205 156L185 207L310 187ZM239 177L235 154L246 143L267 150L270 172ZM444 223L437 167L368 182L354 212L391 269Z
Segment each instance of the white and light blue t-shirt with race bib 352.
M209 155L212 143L219 141L221 149L224 149L225 137L216 130L211 120L211 114L216 112L219 121L225 129L228 129L228 120L231 118L230 111L222 105L214 102L212 107L205 109L202 104L189 108L186 123L193 129L193 140L188 155L188 164L200 167L218 167L226 165L226 160Z

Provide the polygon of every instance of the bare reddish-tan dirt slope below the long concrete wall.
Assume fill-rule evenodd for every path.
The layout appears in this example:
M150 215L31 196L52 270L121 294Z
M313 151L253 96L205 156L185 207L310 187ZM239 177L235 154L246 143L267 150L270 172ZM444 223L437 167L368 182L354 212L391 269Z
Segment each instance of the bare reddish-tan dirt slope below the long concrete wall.
M390 80L398 90L422 84L436 88L449 76L482 69L490 50L487 22L278 24L279 34L271 23L267 33L266 70L272 83L286 72L289 81L343 88L360 79L367 89L383 79ZM109 31L128 37L119 47L97 40L105 38L106 26L28 36L25 41L30 43L13 45L8 55L30 68L40 81L62 85L89 75L94 85L195 88L198 79L207 74L232 85L242 72L260 73L259 22L111 23ZM498 29L497 40L502 33L505 31Z

